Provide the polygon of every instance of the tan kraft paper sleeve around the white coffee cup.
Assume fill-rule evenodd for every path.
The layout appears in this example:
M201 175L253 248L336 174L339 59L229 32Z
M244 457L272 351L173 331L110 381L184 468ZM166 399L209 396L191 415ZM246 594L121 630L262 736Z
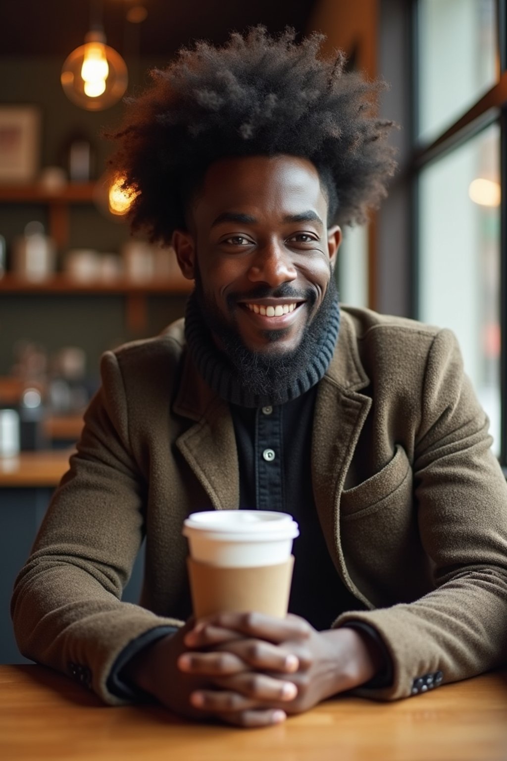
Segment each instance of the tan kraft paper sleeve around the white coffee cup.
M218 568L187 558L195 618L221 611L254 611L285 618L294 558L255 568Z

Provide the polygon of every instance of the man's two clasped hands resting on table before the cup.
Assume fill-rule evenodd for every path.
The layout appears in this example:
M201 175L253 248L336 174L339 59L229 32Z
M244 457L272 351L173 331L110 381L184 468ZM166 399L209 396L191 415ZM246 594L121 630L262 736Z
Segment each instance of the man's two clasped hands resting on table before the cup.
M379 658L356 629L317 632L299 616L218 613L145 648L127 675L179 715L259 727L365 683Z

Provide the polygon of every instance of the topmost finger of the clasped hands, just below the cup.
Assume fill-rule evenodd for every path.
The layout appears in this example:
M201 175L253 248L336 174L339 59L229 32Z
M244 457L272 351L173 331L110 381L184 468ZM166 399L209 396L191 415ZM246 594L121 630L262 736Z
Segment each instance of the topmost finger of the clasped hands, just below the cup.
M232 632L258 637L278 644L287 639L306 639L312 632L312 627L299 616L286 616L284 619L265 616L264 613L216 613L208 619L201 619L186 637L198 635L207 626L227 629ZM192 641L193 645L193 641Z

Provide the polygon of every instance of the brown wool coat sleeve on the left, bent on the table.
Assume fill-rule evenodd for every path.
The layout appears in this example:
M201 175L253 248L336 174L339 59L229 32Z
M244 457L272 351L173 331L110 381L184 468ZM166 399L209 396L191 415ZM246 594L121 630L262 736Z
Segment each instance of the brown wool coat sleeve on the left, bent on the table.
M27 658L118 704L107 680L119 654L144 632L182 622L120 600L144 534L147 484L128 440L116 355L104 355L101 372L77 454L14 584L11 613Z

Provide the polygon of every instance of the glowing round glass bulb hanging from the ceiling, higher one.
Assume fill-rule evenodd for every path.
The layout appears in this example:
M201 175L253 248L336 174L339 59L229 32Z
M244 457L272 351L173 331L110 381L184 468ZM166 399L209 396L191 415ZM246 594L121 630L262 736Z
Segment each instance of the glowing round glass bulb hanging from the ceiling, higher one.
M109 108L119 101L128 84L125 61L106 45L100 30L87 33L84 45L65 60L60 78L65 95L89 111Z

